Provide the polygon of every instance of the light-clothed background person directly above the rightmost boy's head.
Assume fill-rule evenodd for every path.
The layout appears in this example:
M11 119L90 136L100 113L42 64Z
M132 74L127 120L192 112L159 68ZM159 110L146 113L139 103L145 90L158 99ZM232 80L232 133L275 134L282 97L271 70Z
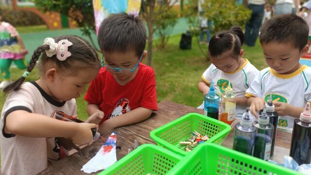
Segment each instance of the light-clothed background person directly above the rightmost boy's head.
M298 14L300 0L276 0L275 15Z

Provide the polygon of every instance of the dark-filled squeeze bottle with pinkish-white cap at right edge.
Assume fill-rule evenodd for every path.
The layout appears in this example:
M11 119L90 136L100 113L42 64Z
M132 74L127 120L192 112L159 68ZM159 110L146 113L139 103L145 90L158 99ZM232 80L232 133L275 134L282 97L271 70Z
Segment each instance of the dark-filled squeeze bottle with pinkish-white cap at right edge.
M299 119L294 120L290 157L299 164L311 163L311 114L308 102Z

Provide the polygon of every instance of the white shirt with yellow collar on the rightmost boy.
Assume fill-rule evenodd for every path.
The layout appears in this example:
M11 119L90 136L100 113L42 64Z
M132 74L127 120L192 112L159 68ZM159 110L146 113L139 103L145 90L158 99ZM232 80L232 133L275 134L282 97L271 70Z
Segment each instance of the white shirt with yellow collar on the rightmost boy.
M271 68L261 70L255 81L246 90L246 97L260 97L265 102L270 95L275 102L284 102L296 107L305 107L311 101L311 68L303 65L291 74L278 74ZM279 116L277 125L293 128L294 117Z

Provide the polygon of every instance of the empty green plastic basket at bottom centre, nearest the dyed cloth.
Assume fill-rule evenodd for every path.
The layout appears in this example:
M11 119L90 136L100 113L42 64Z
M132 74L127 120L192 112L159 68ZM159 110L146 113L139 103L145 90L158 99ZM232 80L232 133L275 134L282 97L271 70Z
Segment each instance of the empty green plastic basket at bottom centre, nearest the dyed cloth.
M181 156L153 144L143 144L99 175L166 175Z

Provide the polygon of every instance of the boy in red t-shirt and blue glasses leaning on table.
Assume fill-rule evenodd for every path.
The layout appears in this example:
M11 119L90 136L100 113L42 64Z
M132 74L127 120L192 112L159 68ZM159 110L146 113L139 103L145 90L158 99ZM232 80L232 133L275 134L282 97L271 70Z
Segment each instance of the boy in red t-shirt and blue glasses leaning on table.
M135 14L114 14L98 32L102 65L90 83L85 100L88 123L100 123L99 132L138 123L157 110L155 72L140 61L146 57L146 29ZM97 117L95 117L97 116Z

